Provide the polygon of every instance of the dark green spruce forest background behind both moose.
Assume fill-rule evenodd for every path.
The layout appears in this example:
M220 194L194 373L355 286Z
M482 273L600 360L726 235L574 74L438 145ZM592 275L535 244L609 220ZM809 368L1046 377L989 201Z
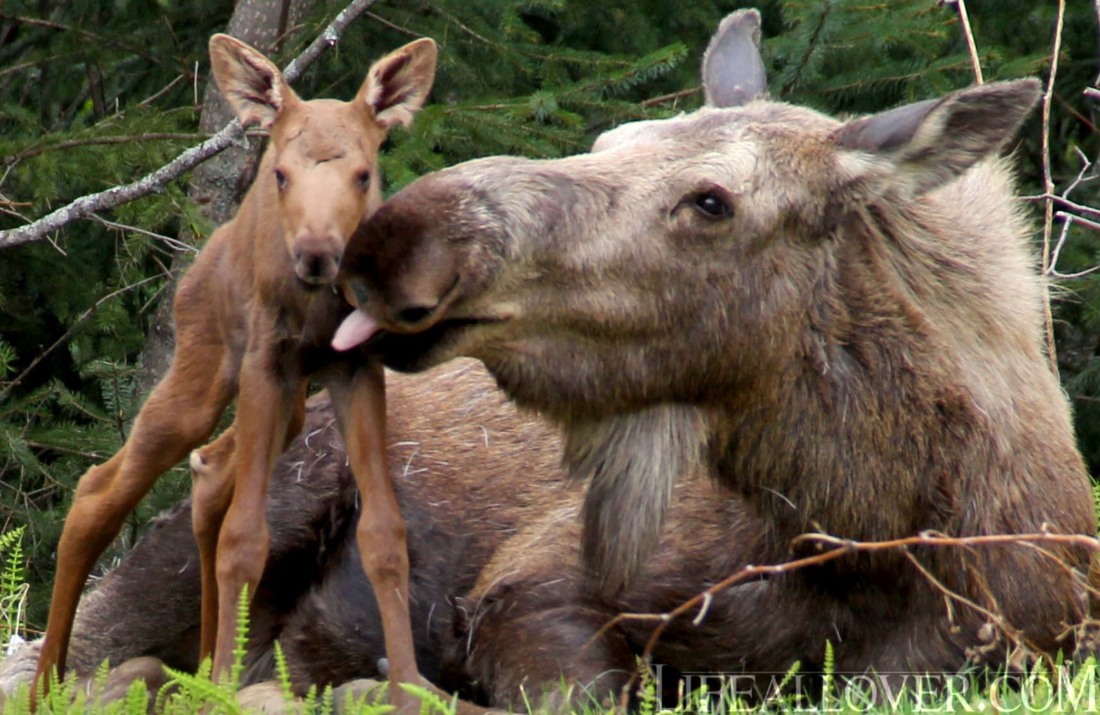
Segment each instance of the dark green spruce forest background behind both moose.
M975 81L959 8L936 0L354 4L365 11L295 81L301 96L351 98L373 59L415 37L430 36L441 51L429 105L384 147L387 193L479 156L584 152L615 124L696 108L702 51L739 7L762 12L769 85L782 100L860 113ZM175 278L232 215L263 137L253 134L158 192L59 230L30 239L8 230L145 176L221 130L229 112L208 89L211 34L228 30L285 66L345 7L0 4L0 533L26 526L32 630L44 625L76 480L118 449L166 368ZM1088 271L1100 266L1100 181L1089 180L1100 152L1100 0L1062 8L1055 0L970 0L966 9L986 81L1047 82L1056 57L1048 111L1034 113L1013 149L1036 261L1054 283L1057 368L1097 478L1100 275ZM163 478L106 561L189 487L183 466Z

